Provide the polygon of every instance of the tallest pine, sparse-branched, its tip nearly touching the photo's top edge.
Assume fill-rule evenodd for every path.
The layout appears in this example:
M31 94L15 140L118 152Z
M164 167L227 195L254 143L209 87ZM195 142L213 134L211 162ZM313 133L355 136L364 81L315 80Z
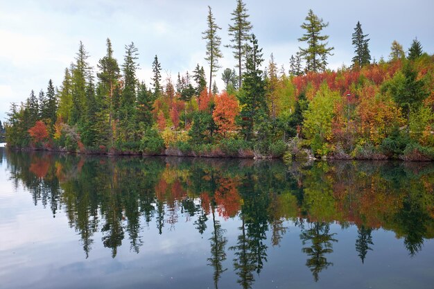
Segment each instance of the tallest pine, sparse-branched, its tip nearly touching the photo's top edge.
M236 8L234 12L231 13L233 16L231 20L233 25L229 24L229 36L232 37L230 40L232 44L227 45L227 47L234 49L234 58L238 61L236 67L238 67L238 88L241 88L242 82L242 65L241 62L245 57L245 48L247 46L248 40L250 40L250 30L252 30L252 25L248 21L250 15L247 14L248 10L245 8L245 3L242 0L236 1Z

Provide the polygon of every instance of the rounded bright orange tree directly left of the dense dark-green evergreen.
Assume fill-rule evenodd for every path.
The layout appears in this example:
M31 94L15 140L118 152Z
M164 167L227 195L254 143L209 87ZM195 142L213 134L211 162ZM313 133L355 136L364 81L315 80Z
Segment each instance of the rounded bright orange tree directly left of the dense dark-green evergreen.
M218 132L226 135L226 132L235 130L235 118L240 112L238 101L235 96L227 94L223 91L216 97L216 107L212 113L212 117L216 125L218 125Z

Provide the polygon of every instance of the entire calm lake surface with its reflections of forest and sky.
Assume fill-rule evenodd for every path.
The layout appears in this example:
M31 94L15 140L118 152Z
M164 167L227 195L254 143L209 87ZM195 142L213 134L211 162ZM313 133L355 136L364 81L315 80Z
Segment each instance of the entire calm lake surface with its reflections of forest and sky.
M0 148L0 288L433 288L434 164Z

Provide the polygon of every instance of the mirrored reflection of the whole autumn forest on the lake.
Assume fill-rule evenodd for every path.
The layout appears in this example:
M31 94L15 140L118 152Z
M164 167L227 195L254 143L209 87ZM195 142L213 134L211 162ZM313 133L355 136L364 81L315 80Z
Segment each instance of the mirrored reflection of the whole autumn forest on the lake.
M3 150L2 150L3 152ZM200 234L211 231L207 264L214 286L234 270L242 288L251 288L267 262L268 246L279 246L291 222L313 279L330 265L338 235L330 226L355 225L356 254L365 262L374 249L372 231L402 238L408 254L434 238L434 165L357 162L290 164L281 161L96 157L44 152L3 152L15 186L22 184L35 205L53 217L67 214L85 256L102 242L116 257L129 242L144 243L141 231L174 229L180 216ZM239 220L238 237L228 247L225 220ZM94 235L101 231L103 237ZM270 240L267 240L270 238ZM233 268L223 265L231 252Z

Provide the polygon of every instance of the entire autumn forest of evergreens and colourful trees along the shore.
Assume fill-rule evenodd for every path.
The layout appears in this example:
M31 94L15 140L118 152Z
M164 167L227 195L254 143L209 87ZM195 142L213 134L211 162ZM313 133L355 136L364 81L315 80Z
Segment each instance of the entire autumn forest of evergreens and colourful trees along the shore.
M198 64L162 80L157 55L151 85L137 79L138 51L125 46L123 64L107 53L94 69L80 42L58 89L12 104L6 123L12 148L93 153L208 157L333 157L434 159L434 56L415 39L403 51L394 41L387 61L370 55L358 22L351 67L327 69L333 47L328 26L309 10L299 38L306 47L286 71L270 56L264 64L248 11L238 0L229 24L236 69L220 69L220 27L211 8L206 40L209 81ZM261 69L261 67L266 67ZM215 78L214 78L215 79Z

